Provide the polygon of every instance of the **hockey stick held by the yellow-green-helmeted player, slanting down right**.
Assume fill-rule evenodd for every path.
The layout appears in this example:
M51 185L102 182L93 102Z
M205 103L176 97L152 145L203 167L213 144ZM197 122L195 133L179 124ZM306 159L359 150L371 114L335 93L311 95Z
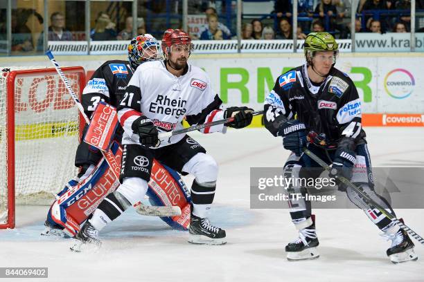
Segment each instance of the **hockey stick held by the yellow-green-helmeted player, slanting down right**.
M324 162L324 160L321 160L321 158L319 158L317 155L315 155L315 153L312 153L309 149L303 148L303 153L306 153L306 155L308 155L312 160L315 160L315 162L317 162L326 171L329 172L331 170L331 167L328 164L326 164L326 162ZM387 210L385 208L378 205L378 203L374 202L371 198L369 198L368 195L366 195L366 193L364 193L364 191L361 191L361 189L359 187L354 185L351 181L349 181L347 178L344 178L343 176L338 176L337 179L340 180L340 182L343 182L344 185L347 185L348 187L351 187L353 190L355 190L357 192L357 194L360 194L360 196L362 196L362 198L364 198L366 203L368 203L370 206L376 207L376 209L378 209L382 214L387 216L387 218L389 218L392 222L394 222L400 228L402 228L407 233L409 233L409 235L416 238L416 241L418 241L419 243L424 245L423 237L416 234L416 232L414 232L414 230L412 230L411 228L407 227L407 225L405 225L405 223L402 223L400 220L398 220L398 218L393 216L391 213L387 212Z

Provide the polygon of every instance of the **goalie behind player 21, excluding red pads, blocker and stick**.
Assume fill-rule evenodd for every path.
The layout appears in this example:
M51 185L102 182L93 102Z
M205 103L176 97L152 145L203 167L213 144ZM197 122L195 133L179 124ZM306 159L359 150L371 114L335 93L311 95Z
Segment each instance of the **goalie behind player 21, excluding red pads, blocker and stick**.
M107 102L116 107L125 94L125 87L136 68L143 64L143 62L159 59L159 44L152 35L146 34L134 37L128 45L127 50L127 61L115 59L105 62L94 72L89 82L87 82L87 85L82 91L81 102L85 114L88 117L91 117L94 109L96 109L96 105L100 101ZM87 126L85 128L86 130ZM122 134L123 129L119 126L114 136L114 139L119 144L121 144ZM75 159L75 165L80 169L78 177L69 181L58 196L64 194L64 192L76 185L80 180L85 179L101 158L102 153L98 149L90 147L86 142L80 142ZM55 232L60 233L63 229L51 217L51 209L48 211L44 225L46 228L42 234L45 235Z

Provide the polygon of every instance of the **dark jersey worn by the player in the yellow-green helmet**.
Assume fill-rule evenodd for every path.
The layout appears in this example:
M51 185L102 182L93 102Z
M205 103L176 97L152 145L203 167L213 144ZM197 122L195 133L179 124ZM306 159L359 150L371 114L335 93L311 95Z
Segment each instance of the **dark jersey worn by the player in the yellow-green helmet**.
M331 68L320 85L312 84L307 66L299 66L280 75L267 95L264 106L265 127L277 135L286 120L297 119L307 132L324 133L329 143L353 138L364 143L361 102L352 80L337 68Z

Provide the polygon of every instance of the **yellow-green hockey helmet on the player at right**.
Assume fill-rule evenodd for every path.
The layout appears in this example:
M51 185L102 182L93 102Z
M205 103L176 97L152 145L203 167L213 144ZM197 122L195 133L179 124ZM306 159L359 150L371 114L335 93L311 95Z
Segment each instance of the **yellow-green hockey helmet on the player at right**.
M337 44L333 35L330 35L328 32L310 32L305 39L303 50L305 52L306 62L311 64L315 52L333 51L336 57L339 52L339 44Z

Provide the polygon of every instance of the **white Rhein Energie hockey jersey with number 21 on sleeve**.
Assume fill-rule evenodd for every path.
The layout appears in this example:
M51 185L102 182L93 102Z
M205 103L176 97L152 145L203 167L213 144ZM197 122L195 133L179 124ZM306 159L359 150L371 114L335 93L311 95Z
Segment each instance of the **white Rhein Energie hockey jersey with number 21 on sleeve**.
M191 125L222 120L222 101L212 90L209 76L202 69L188 64L186 73L176 77L164 62L141 64L125 89L118 104L118 119L125 131L122 144L139 144L139 135L132 123L141 115L154 122L160 132L182 129L184 117ZM223 124L202 130L204 133L225 132ZM184 134L161 140L159 147L175 144Z

